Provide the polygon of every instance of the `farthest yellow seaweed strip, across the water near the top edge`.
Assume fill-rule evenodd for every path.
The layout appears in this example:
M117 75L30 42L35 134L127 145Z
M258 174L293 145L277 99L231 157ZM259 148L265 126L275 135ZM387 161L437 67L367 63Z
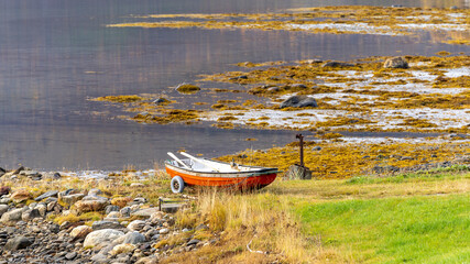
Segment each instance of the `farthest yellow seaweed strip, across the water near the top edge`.
M367 6L292 9L280 13L151 14L135 19L159 20L109 24L109 28L201 28L303 31L332 34L413 34L416 29L439 32L440 41L467 44L468 9L383 8ZM184 19L184 20L177 20ZM456 34L457 33L457 34ZM456 37L457 35L457 37ZM262 64L242 63L245 67Z

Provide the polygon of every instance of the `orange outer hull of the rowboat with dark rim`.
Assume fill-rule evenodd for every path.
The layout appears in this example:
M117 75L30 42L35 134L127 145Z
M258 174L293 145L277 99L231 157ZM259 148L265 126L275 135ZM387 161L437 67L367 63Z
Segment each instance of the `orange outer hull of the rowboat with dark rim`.
M240 173L198 173L165 164L166 173L173 178L179 176L189 186L232 187L238 189L262 188L274 182L277 169Z

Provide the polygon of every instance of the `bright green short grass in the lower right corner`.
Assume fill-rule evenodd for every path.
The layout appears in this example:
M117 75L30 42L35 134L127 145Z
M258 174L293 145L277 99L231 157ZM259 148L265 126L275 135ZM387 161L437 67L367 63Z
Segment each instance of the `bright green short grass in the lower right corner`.
M470 263L468 193L304 204L294 210L306 235L347 262Z

